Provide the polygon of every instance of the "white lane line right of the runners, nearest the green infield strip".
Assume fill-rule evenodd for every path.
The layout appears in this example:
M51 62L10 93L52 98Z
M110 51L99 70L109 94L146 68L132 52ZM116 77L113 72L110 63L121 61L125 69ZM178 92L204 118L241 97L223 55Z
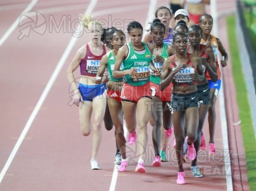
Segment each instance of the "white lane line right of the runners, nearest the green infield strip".
M220 15L218 15L217 12L217 4L216 0L211 1L211 16L214 20L213 25L213 34L215 36L220 36L218 33L218 18ZM218 53L218 60L221 60L220 53ZM222 67L220 67L220 71L222 73ZM222 79L223 76L222 76ZM219 94L219 107L220 107L220 122L222 126L222 138L223 138L223 154L224 154L224 161L225 161L225 174L226 174L226 185L227 190L232 191L233 190L233 183L232 183L232 171L231 171L231 158L229 155L229 139L228 139L228 132L227 132L227 115L225 111L225 97L224 97L224 80L222 80L222 88L220 88L220 94Z

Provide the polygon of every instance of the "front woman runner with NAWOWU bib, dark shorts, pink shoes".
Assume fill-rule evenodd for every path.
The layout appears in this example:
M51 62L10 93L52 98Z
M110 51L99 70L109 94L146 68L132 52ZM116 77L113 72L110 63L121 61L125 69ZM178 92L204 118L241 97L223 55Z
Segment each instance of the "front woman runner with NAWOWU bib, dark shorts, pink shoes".
M183 169L185 124L187 125L187 140L190 142L188 145L188 158L194 160L196 158L196 150L193 143L197 139L199 124L196 81L198 80L198 74L203 74L203 67L197 55L197 59L194 59L194 57L193 60L190 59L187 53L187 36L183 32L174 34L173 43L175 53L164 61L160 90L164 90L169 83L173 83L171 108L176 137L175 151L178 160L178 178L176 183L185 184L185 171Z

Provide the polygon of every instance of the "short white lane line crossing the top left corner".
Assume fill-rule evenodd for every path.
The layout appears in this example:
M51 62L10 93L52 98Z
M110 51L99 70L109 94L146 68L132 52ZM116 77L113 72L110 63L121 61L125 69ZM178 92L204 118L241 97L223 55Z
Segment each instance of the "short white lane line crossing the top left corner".
M27 8L25 8L25 10L20 14L20 17L22 17L22 15L24 13L26 13L27 11L30 11L33 6L38 2L38 0L32 0L31 3L29 3L29 5L27 6ZM2 38L0 39L0 46L3 45L4 41L6 41L6 39L8 39L8 37L11 35L11 33L16 29L16 27L18 26L18 22L20 21L20 17L18 17L15 22L13 22L13 24L11 25L11 27L8 29L8 31L6 31L4 33L4 35L2 36Z

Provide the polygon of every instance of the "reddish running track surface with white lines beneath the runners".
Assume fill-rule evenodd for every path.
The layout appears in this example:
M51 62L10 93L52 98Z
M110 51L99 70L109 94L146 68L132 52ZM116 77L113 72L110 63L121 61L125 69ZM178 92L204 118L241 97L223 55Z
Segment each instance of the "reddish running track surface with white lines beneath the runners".
M207 152L200 153L199 167L204 178L193 178L190 163L187 162L187 185L176 185L177 167L173 162L174 150L171 146L173 136L167 153L171 162L162 163L162 167L152 167L150 125L145 174L134 172L137 159L129 162L126 173L113 171L114 132L107 132L104 126L98 157L102 169L90 170L92 136L85 138L81 135L78 108L70 106L72 93L66 77L66 69L76 50L89 41L86 34L79 38L72 35L78 15L89 8L94 18L106 21L106 27L115 22L119 28L125 29L131 20L138 20L145 25L148 16L153 17L158 6L167 5L167 1L163 0L152 1L152 6L149 6L149 0L92 2L3 0L0 3L0 190L227 190L226 156L220 122L222 108L219 108L218 102L215 136L218 154L208 157ZM148 15L150 8L153 11ZM29 26L27 22L31 21L28 18L20 22L24 25L18 27L24 10L33 11L31 15L25 14L32 20L36 18L35 11L38 11L36 22L41 25L32 24L30 33L24 29ZM217 12L220 15L234 10L234 0L225 3L217 0ZM120 20L122 22L118 22ZM220 39L228 50L223 18L220 18L218 28L221 29L218 30ZM23 33L21 29L24 29ZM241 187L248 190L240 127L233 125L239 118L230 60L228 64L223 71L224 92L229 95L225 104L231 145L231 167L228 167L227 173L232 175L234 190L242 190ZM207 120L204 134L208 141ZM132 146L128 148L131 156L135 149Z

